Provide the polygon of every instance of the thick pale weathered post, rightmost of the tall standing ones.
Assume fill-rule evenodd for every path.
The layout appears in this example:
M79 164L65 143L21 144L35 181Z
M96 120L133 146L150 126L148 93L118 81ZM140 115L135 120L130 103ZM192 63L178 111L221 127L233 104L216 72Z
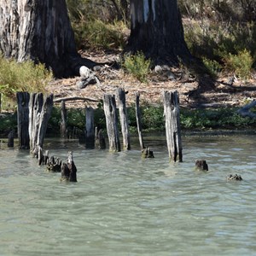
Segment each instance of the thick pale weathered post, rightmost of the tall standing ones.
M183 161L180 117L179 117L179 98L176 91L164 91L164 115L166 118L166 141L169 158L172 161Z

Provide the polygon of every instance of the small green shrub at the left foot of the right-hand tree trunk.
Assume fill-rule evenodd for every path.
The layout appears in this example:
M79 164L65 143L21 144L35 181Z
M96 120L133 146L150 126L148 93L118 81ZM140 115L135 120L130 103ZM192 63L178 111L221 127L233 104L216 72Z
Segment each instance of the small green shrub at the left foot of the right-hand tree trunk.
M125 71L131 73L140 82L147 81L150 66L151 61L146 59L143 52L137 52L135 55L126 55L123 63Z

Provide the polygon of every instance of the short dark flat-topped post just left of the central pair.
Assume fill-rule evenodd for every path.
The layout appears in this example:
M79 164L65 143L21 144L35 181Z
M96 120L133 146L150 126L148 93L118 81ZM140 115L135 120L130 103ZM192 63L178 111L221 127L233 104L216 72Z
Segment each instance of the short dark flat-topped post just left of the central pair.
M85 108L85 148L94 148L94 109Z

